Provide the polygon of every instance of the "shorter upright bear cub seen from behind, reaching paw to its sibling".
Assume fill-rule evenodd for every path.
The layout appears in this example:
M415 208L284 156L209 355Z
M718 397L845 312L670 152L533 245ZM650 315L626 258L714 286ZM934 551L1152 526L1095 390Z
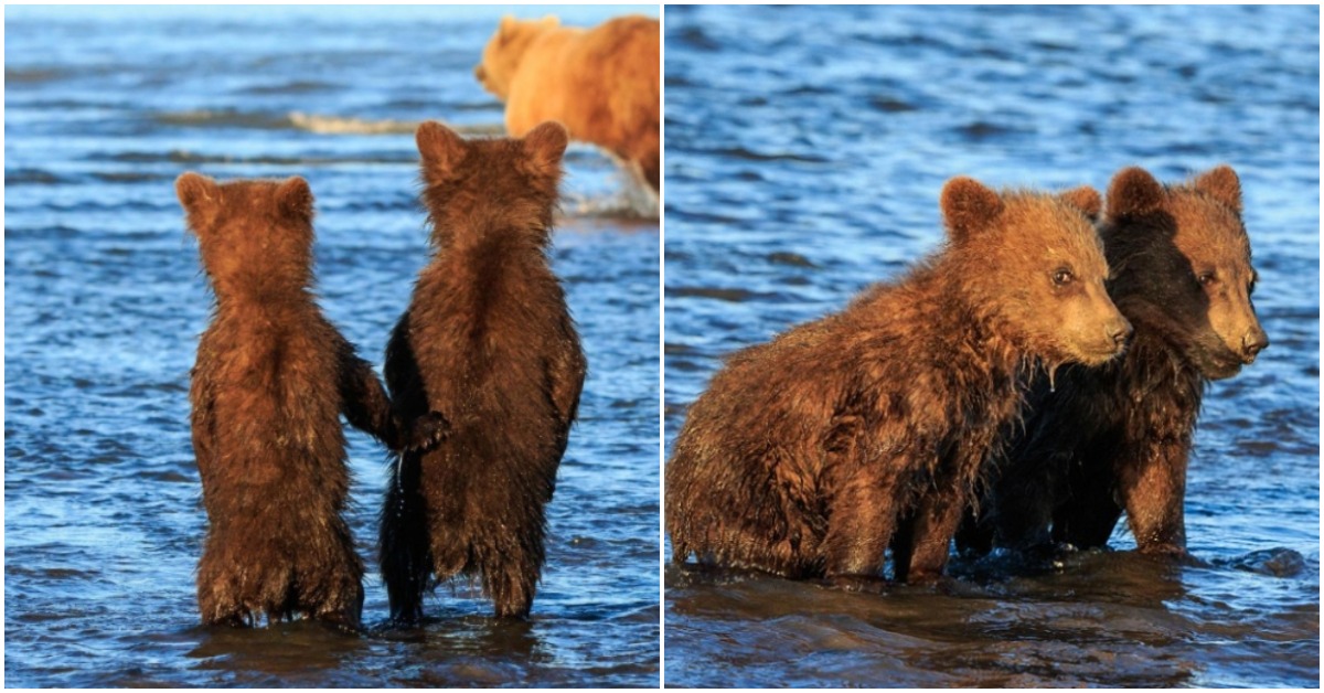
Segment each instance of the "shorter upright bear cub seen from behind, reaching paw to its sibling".
M192 372L193 452L209 529L197 567L203 621L302 613L357 628L363 560L342 513L340 415L387 445L406 436L372 367L322 315L312 284L312 193L301 178L175 184L216 295Z

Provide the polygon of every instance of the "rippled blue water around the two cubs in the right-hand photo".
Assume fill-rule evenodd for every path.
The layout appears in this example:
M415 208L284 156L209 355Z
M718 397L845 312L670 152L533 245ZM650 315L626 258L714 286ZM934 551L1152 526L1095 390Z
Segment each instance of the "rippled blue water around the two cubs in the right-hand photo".
M1233 164L1272 339L1205 401L1206 564L1119 529L1059 568L956 562L886 595L667 566L667 684L1319 685L1317 37L1312 7L667 8L667 445L726 354L933 250L957 174Z

